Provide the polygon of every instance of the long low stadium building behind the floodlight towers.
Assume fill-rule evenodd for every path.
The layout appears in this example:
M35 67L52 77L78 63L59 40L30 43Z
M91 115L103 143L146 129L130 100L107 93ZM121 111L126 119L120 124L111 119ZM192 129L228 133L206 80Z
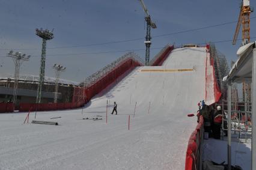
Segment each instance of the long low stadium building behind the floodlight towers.
M17 89L17 105L19 103L35 103L37 99L38 76L20 75ZM44 77L41 103L53 103L55 96L55 78ZM78 82L59 79L58 102L72 102L73 89L78 87ZM0 74L0 103L13 99L14 76L11 74Z

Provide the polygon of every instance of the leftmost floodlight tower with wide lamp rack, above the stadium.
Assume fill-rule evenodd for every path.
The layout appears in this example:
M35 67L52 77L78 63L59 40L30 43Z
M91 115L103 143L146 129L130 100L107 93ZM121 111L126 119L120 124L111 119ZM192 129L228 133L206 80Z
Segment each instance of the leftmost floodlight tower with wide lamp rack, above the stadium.
M28 61L30 58L30 55L26 56L25 53L22 54L20 52L13 53L13 50L10 50L10 52L7 53L7 56L13 58L13 62L15 65L14 85L13 85L13 103L16 104L20 65L22 64L23 61Z

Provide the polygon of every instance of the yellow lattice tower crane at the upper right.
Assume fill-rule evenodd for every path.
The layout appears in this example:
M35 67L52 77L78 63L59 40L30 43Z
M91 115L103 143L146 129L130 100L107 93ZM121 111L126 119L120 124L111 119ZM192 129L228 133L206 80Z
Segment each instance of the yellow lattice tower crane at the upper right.
M243 24L242 29L242 44L247 44L250 42L250 13L252 12L250 8L249 0L242 0L242 4L240 7L239 19L236 25L236 32L233 38L233 45L236 44L237 36L240 31L241 23Z

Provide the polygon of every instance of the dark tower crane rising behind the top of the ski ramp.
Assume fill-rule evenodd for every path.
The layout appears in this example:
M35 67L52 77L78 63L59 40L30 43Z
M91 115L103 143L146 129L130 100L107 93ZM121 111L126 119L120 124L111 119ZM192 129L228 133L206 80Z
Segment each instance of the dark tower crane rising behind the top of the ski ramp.
M148 65L149 59L150 59L150 45L151 45L151 36L150 36L150 28L155 29L156 28L156 23L152 22L150 18L150 14L148 13L148 9L144 4L143 0L139 0L141 2L142 8L146 14L145 16L145 22L147 22L147 34L145 37L145 45L146 45L146 53L145 53L145 65Z

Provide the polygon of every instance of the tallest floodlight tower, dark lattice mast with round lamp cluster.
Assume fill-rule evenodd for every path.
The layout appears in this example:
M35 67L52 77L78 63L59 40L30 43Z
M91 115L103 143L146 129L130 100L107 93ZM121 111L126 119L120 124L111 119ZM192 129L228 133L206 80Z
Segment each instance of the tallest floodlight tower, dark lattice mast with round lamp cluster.
M40 65L40 73L39 73L39 80L38 80L38 88L37 88L37 102L41 103L41 90L42 85L44 83L44 70L45 70L45 58L46 58L46 40L51 40L53 38L52 31L48 29L35 29L35 34L38 37L43 39L42 49L41 49L41 65Z

